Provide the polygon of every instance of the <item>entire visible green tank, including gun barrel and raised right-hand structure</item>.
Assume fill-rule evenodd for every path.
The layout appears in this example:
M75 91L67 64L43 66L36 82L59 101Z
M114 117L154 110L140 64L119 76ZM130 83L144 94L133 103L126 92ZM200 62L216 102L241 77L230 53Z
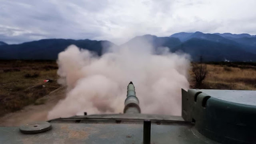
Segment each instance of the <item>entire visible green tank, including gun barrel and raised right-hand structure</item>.
M256 144L256 91L182 89L181 116L143 114L132 82L124 113L0 127L1 143ZM19 132L20 131L20 132Z

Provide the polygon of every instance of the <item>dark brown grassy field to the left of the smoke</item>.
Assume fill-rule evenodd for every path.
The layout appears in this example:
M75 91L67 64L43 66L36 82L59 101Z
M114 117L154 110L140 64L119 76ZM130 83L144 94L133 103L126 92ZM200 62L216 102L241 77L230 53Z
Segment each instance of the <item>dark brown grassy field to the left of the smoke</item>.
M22 109L59 88L56 61L0 61L0 116ZM44 83L44 79L53 82Z

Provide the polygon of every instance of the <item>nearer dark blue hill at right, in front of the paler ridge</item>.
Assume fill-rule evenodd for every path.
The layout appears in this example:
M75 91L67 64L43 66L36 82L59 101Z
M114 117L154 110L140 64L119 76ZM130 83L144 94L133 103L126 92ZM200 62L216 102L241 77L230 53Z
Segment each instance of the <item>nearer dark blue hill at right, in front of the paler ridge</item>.
M243 50L242 47L212 42L199 38L192 38L172 49L172 52L182 51L190 54L193 61L198 61L200 56L204 61L256 61L256 54Z

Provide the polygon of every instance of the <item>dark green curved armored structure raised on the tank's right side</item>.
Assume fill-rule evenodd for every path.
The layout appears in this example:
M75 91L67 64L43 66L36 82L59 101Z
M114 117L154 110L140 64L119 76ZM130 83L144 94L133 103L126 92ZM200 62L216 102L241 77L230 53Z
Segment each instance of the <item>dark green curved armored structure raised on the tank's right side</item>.
M256 91L182 90L182 117L220 143L256 143Z

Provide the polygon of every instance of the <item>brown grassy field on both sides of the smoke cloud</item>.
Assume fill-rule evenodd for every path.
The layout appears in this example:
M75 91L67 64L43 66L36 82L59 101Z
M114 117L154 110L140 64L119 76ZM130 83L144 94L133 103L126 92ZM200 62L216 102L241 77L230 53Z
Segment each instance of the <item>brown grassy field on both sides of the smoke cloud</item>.
M0 61L0 116L44 104L41 97L60 87L57 69L56 61ZM207 71L203 89L256 90L256 63L214 62L207 64ZM53 82L44 83L47 78ZM191 70L189 81L196 88Z

